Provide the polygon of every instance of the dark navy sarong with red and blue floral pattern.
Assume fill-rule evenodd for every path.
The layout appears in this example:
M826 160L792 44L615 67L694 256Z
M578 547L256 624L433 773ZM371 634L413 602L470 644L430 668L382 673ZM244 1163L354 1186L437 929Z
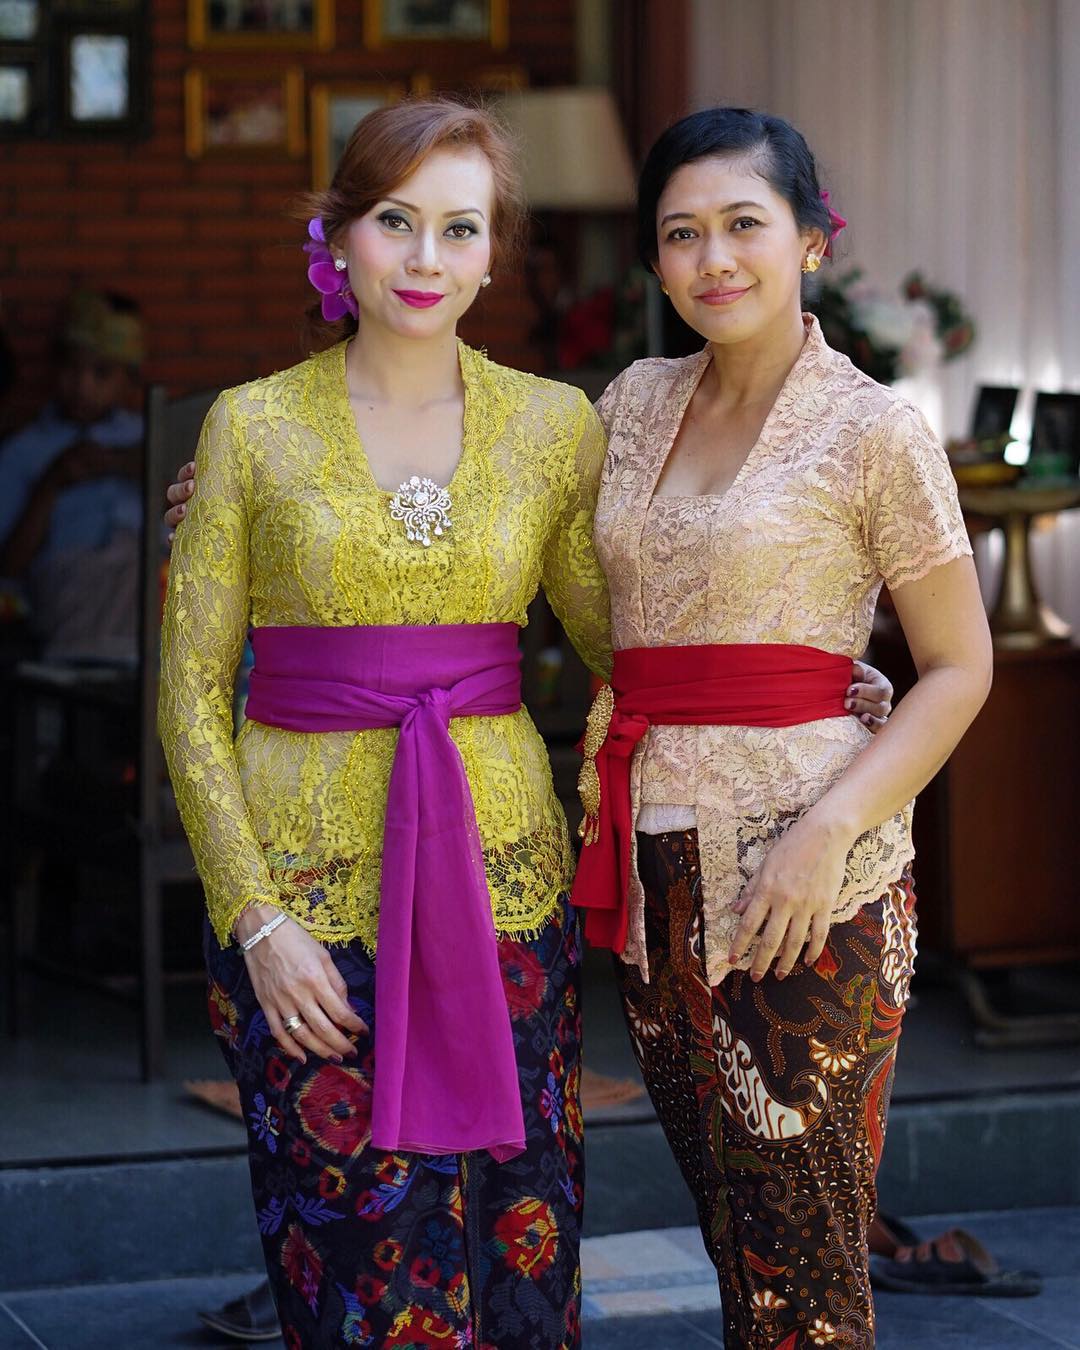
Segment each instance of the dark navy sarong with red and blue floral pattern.
M375 964L359 942L328 950L374 1031ZM289 1350L576 1347L585 1158L574 910L563 906L536 938L500 940L526 1141L502 1164L486 1152L375 1152L371 1041L340 1065L289 1060L242 953L209 929L207 964Z

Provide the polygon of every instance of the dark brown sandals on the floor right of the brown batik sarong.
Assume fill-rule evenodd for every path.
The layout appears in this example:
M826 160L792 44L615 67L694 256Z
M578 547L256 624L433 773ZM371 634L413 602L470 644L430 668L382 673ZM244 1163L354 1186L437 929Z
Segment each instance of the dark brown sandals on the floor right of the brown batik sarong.
M888 1226L896 1227L891 1220ZM914 1237L910 1228L906 1233ZM1023 1299L1042 1292L1041 1276L1034 1270L1002 1270L983 1243L964 1228L949 1228L929 1242L909 1242L891 1257L872 1256L869 1269L875 1289L894 1293Z

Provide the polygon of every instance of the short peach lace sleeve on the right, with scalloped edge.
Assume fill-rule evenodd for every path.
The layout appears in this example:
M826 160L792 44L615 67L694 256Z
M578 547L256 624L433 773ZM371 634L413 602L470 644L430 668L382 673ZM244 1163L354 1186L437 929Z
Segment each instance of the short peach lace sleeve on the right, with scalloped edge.
M894 404L864 441L867 547L890 589L972 548L948 456L913 404Z

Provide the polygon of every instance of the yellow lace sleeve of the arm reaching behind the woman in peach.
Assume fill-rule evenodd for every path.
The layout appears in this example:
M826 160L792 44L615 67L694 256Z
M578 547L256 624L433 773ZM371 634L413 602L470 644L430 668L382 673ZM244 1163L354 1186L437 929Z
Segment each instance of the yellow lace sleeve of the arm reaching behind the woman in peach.
M578 655L595 675L612 674L608 580L593 545L593 517L608 439L582 394L572 414L562 505L544 551L543 586Z

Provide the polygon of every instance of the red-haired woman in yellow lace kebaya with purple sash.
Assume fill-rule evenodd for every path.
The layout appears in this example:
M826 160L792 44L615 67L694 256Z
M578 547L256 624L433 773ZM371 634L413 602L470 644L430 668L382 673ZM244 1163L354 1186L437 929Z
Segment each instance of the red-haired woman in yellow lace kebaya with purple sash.
M543 585L609 672L605 437L455 338L518 216L486 115L364 119L309 231L355 336L217 400L173 552L161 733L290 1347L579 1343L572 855L517 633Z

